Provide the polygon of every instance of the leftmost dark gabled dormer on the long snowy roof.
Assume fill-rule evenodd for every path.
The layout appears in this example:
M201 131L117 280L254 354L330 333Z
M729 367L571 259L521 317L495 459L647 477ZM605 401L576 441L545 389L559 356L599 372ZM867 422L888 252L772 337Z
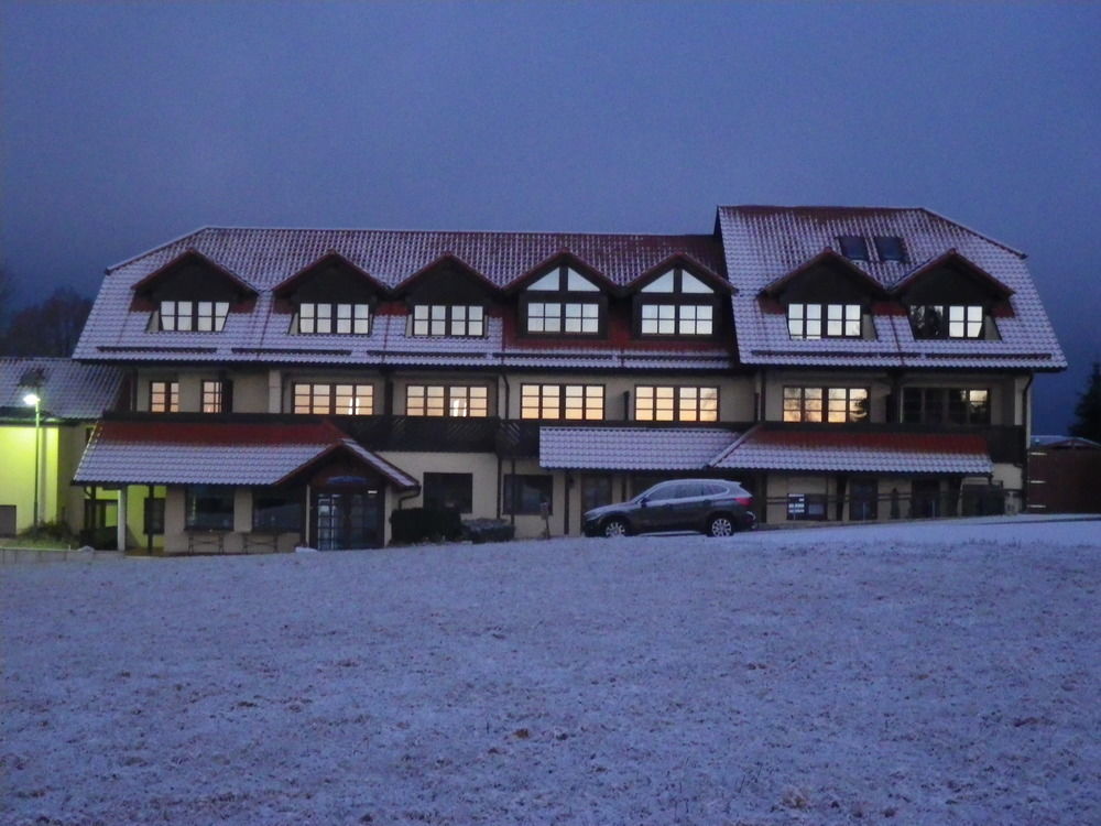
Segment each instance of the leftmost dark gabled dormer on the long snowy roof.
M130 309L150 312L150 333L219 333L229 313L251 312L257 292L195 249L133 285Z

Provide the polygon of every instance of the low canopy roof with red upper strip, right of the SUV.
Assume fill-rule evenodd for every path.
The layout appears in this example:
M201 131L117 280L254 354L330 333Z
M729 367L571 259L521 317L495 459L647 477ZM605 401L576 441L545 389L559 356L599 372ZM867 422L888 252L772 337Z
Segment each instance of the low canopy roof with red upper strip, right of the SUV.
M755 427L717 456L712 467L874 474L993 471L986 439L962 433L852 433Z

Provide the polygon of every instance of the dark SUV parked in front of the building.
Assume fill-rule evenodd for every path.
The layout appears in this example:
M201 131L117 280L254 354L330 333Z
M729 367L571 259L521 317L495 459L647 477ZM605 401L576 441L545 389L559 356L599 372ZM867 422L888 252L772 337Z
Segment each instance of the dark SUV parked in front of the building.
M655 531L702 531L729 536L756 526L753 497L726 479L661 482L634 499L593 508L585 514L586 536L625 536Z

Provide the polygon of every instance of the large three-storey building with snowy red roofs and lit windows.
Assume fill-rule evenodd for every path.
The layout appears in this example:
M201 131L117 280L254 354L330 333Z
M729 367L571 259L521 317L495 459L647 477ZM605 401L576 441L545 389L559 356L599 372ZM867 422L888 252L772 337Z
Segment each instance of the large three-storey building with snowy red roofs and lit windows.
M1025 265L919 208L697 236L206 228L108 270L74 474L170 553L381 545L418 504L577 534L671 477L760 521L1012 508L1066 362Z

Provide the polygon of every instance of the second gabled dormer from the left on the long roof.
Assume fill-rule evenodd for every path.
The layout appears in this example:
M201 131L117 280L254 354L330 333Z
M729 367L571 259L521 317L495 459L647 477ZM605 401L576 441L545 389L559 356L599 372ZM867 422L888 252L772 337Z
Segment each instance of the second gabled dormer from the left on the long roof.
M366 336L384 292L366 270L330 250L275 287L275 309L292 314L292 334Z

